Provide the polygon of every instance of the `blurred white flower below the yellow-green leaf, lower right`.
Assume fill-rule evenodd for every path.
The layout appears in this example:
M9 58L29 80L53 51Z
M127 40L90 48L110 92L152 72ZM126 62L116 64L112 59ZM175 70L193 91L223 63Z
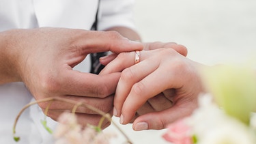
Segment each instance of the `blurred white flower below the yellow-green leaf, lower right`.
M199 98L199 108L186 119L198 144L254 144L251 129L218 108L210 95Z

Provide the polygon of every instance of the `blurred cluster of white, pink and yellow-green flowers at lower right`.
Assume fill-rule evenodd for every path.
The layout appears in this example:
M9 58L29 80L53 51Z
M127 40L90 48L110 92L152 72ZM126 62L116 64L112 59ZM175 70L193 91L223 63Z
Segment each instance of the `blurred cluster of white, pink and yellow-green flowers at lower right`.
M163 137L175 144L255 144L256 74L220 66L203 71L210 93L190 117L169 125Z

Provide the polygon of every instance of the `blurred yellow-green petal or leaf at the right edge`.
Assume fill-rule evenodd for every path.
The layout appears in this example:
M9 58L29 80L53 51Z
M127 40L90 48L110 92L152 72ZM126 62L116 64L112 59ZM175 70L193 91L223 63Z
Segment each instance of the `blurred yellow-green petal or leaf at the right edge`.
M255 110L256 78L252 68L216 66L203 71L203 79L224 111L249 124Z

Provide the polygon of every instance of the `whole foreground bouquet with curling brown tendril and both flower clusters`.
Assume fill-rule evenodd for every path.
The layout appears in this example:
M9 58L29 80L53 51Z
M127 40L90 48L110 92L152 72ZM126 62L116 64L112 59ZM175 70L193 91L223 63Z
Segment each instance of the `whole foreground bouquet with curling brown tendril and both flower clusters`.
M199 107L189 117L175 121L167 128L164 139L174 144L255 144L256 143L256 74L252 68L220 66L203 70L202 77L209 93L199 96ZM63 98L46 98L27 104L18 114L14 128L14 139L18 117L32 104L40 102L62 101L74 104L72 113L63 113L59 117L59 126L52 131L46 120L42 125L53 132L55 143L110 143L115 134L103 133L102 121L111 121L111 116L94 107ZM50 106L50 105L49 105ZM98 126L78 124L77 107L85 106L102 115ZM47 113L47 109L45 114ZM113 123L113 121L111 121ZM128 136L113 123L119 132L131 143Z

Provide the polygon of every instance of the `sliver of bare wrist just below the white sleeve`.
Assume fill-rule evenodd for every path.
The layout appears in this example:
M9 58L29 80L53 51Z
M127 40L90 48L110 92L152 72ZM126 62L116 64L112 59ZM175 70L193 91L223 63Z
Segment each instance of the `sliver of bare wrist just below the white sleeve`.
M117 31L118 33L123 35L125 38L128 38L129 40L141 41L141 37L139 36L139 33L137 33L137 31L134 31L133 29L130 29L128 27L111 27L109 29L106 29L105 31Z

